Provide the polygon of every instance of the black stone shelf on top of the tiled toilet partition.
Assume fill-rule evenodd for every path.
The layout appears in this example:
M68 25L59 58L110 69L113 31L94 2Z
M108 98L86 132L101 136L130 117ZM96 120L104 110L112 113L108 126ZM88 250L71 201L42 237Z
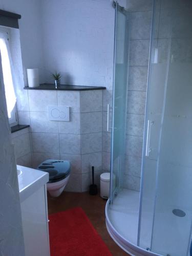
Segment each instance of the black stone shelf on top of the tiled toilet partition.
M42 83L38 87L24 87L25 90L53 90L53 91L90 91L90 90L105 90L106 87L96 86L68 86L67 84L60 84L55 89L55 85L52 83Z

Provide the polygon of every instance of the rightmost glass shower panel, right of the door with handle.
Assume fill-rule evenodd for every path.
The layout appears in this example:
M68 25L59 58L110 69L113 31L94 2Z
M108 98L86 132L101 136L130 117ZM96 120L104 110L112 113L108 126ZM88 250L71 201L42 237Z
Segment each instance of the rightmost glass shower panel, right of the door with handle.
M192 219L192 8L169 8L161 10L159 24L167 71L152 251L180 256L189 253Z

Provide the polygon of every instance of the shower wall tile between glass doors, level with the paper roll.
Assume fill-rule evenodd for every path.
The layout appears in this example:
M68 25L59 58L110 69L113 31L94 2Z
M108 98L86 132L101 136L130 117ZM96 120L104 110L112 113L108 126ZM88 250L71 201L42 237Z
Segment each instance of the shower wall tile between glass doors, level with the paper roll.
M128 90L146 91L148 67L130 67L129 69Z

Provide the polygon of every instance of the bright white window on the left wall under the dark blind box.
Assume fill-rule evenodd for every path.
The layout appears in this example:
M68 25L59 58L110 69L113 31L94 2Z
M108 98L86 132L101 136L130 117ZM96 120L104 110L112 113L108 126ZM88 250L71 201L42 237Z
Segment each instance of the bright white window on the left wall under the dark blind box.
M5 85L7 111L10 125L16 124L16 96L14 92L13 66L8 43L8 33L0 30L0 51L2 57L2 70Z

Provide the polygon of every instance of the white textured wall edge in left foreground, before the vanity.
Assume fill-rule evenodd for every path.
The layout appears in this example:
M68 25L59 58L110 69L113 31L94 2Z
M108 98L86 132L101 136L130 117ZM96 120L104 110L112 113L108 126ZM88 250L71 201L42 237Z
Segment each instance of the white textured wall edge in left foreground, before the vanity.
M0 254L24 256L16 162L11 143L1 67L0 78Z

